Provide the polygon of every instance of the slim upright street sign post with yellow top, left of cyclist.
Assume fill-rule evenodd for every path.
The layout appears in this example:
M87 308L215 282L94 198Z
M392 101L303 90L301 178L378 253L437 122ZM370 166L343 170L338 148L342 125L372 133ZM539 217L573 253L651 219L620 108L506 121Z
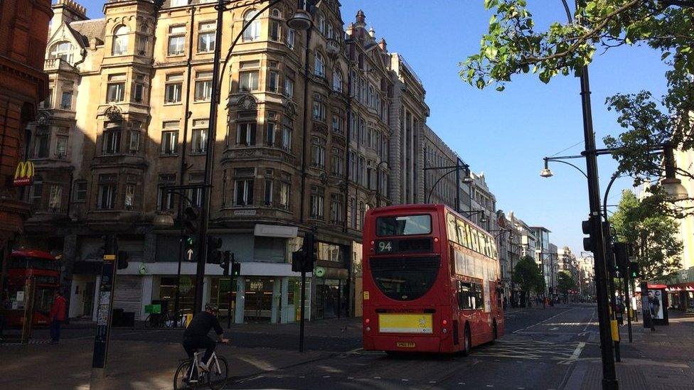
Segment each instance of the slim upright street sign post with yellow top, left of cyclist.
M113 287L116 279L117 253L116 237L113 234L109 234L105 237L104 263L102 264L101 284L99 286L97 332L94 338L94 354L92 355L92 381L103 378L106 368L106 357L111 333L111 308L113 306ZM92 388L97 387L94 383L91 385Z

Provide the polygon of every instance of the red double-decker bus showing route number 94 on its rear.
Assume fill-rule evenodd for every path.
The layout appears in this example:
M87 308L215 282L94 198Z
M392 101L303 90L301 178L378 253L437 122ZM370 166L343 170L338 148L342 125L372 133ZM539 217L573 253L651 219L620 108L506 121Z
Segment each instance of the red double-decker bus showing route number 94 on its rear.
M462 352L503 335L494 237L445 205L369 210L364 350Z

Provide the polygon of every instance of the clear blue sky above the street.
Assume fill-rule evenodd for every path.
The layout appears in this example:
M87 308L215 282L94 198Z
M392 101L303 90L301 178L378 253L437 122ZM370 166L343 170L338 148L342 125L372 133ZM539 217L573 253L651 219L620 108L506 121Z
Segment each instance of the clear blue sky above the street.
M92 18L102 17L103 1L78 0ZM572 3L572 2L570 2ZM427 90L431 109L427 124L469 163L484 172L496 195L497 208L530 226L550 229L550 242L560 249L582 251L581 221L587 219L587 182L570 166L554 163L552 178L540 178L543 157L576 155L583 150L580 84L577 77L557 77L548 85L532 75L517 75L504 92L480 91L463 82L459 63L479 51L491 13L482 0L341 0L342 18L366 14L377 39L402 54ZM536 28L564 21L559 0L529 0ZM666 91L666 67L660 54L646 47L598 51L589 67L593 126L598 147L608 134L619 134L616 114L605 98L616 93ZM583 160L572 161L583 167ZM609 156L599 158L601 191L616 170ZM619 202L631 180L619 179L609 204Z

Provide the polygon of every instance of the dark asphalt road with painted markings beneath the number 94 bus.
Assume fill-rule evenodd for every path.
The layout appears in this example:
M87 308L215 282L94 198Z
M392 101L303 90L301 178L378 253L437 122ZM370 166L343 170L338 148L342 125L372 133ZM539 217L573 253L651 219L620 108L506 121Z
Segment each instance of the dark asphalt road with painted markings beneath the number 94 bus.
M506 326L496 344L469 357L357 349L237 379L228 389L561 389L578 359L599 355L591 306L516 311Z

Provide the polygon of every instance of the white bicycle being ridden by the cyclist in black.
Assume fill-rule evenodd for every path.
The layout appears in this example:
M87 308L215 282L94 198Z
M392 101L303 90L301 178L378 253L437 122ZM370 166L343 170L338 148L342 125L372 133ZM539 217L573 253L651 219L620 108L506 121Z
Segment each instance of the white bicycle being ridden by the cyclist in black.
M221 342L217 342L221 344ZM178 364L176 374L173 376L173 389L197 389L198 386L205 384L213 390L220 390L227 383L229 376L229 364L223 356L217 356L217 352L212 353L208 371L201 369L200 359L203 352L193 353L193 364L191 359L181 360Z

